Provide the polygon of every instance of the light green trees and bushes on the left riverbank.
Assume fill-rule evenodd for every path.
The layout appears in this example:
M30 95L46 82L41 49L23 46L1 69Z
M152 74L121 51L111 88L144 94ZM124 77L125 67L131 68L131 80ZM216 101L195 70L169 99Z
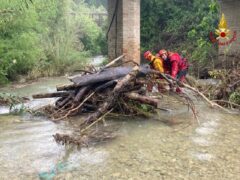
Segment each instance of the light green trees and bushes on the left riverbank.
M105 11L99 1L1 1L0 84L18 75L60 75L106 53L104 30L90 15Z

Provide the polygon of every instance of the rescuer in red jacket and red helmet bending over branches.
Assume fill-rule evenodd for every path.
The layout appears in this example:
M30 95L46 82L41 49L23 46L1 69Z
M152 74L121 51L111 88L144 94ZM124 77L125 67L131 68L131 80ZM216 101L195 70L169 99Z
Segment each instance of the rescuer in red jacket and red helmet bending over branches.
M165 73L170 74L179 81L184 81L188 71L188 62L186 58L182 58L178 53L168 52L162 49L158 52L159 57L164 60ZM176 89L181 92L180 88Z

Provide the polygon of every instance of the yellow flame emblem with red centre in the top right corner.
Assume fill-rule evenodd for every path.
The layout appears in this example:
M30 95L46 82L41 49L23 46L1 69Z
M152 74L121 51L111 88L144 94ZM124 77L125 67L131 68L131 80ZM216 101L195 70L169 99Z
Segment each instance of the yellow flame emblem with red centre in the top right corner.
M218 36L216 39L229 39L228 35L230 33L230 30L227 29L227 21L225 19L225 15L222 14L221 20L218 24L218 29L215 31L216 35Z

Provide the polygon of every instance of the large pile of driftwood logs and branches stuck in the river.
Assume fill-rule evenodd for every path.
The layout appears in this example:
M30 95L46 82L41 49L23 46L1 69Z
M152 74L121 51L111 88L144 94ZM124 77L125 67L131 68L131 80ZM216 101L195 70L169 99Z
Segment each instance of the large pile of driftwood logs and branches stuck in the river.
M104 141L112 138L110 133L103 131L100 135L101 133L99 134L99 131L96 133L92 127L98 122L104 121L104 117L109 113L145 115L138 108L139 104L160 108L161 100L159 97L148 96L145 88L146 84L153 79L157 81L158 77L164 79L172 88L186 87L198 93L212 106L216 105L195 88L177 82L170 76L150 69L149 66L138 66L133 63L134 66L112 67L122 57L117 58L99 71L83 70L82 74L70 77L72 83L58 86L57 92L33 96L33 98L57 98L54 106L44 108L44 112L55 122L76 115L84 117L78 125L79 131L77 134L72 136L56 134L54 135L56 141L63 144L74 143L78 145L87 145L86 142L89 142L89 138L96 140L97 137L101 137L100 140ZM152 78L152 76L155 78ZM197 119L191 98L184 93L180 96Z

